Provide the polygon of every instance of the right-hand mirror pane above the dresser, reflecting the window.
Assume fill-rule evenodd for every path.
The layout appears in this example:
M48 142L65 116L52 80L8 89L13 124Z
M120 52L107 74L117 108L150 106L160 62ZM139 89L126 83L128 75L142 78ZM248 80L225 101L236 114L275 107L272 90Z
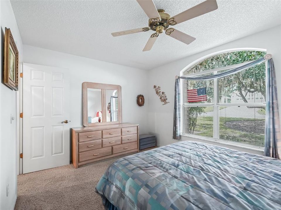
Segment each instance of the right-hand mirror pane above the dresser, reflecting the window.
M106 121L118 121L118 90L105 90Z

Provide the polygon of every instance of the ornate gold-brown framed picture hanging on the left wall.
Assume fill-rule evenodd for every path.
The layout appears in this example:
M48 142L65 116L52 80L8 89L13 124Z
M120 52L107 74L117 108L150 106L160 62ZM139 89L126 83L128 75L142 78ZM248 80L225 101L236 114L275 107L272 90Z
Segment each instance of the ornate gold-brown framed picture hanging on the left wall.
M18 48L10 29L5 28L4 43L4 83L18 90Z

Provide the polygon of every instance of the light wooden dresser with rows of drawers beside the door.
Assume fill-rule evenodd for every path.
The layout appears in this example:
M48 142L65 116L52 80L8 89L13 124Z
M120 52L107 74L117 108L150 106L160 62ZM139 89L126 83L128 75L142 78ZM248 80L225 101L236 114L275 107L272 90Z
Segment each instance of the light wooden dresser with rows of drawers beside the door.
M139 126L132 123L72 128L75 168L98 160L139 151Z

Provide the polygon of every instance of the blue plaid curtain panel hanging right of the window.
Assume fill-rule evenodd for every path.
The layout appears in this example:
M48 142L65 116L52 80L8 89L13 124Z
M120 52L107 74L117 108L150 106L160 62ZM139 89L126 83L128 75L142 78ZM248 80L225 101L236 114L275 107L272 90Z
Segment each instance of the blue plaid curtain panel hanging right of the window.
M281 159L280 118L273 60L267 61L264 155Z

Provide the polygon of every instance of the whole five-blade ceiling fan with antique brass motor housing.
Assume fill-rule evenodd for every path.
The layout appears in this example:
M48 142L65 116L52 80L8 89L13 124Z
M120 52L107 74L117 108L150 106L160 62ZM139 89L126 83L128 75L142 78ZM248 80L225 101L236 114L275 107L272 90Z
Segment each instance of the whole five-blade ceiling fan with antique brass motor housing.
M171 36L185 44L190 44L196 38L189 36L181 31L178 31L174 28L169 28L169 26L174 26L186 20L190 20L194 17L198 17L205 13L211 12L217 9L217 1L216 0L207 0L204 1L188 10L185 10L182 13L179 13L173 17L170 17L168 13L165 13L163 9L156 9L153 0L136 0L141 8L144 10L146 15L149 17L148 27L132 29L127 31L119 31L112 33L112 36L122 36L126 34L133 34L143 31L153 30L156 31L153 33L148 42L146 43L143 51L151 50L154 42L156 41L159 34L165 31L165 34Z

